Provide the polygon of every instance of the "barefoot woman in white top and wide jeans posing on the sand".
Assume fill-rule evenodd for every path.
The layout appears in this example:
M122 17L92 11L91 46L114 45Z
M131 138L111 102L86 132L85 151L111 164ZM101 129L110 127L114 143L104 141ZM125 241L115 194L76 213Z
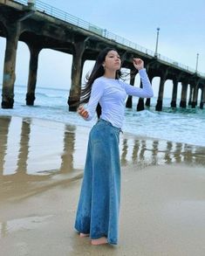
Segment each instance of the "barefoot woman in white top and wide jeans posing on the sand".
M87 147L84 178L81 187L75 228L80 237L90 236L92 245L118 243L120 210L119 136L123 125L127 95L153 97L144 63L133 59L143 88L120 80L121 60L117 51L106 48L99 53L92 73L82 92L79 114L92 120L97 112L99 121L93 126ZM101 111L99 111L98 104Z

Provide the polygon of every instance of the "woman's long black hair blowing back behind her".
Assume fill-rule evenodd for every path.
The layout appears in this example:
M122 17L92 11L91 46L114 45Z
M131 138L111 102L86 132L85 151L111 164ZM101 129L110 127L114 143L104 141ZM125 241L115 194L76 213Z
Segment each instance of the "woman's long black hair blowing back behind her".
M103 62L106 59L106 54L110 51L115 51L117 52L115 49L110 48L110 47L106 47L103 51L99 52L99 55L96 59L95 65L92 69L92 73L90 75L86 75L86 83L85 86L82 88L81 90L81 98L80 98L80 103L87 103L88 100L90 99L91 96L91 90L92 90L92 84L94 82L94 80L98 79L99 77L103 76L105 73L104 67L102 66ZM115 75L115 79L119 80L122 76L122 73L120 70L116 71L116 75ZM98 118L101 114L101 107L98 104L97 108L96 108L97 114L98 114Z

